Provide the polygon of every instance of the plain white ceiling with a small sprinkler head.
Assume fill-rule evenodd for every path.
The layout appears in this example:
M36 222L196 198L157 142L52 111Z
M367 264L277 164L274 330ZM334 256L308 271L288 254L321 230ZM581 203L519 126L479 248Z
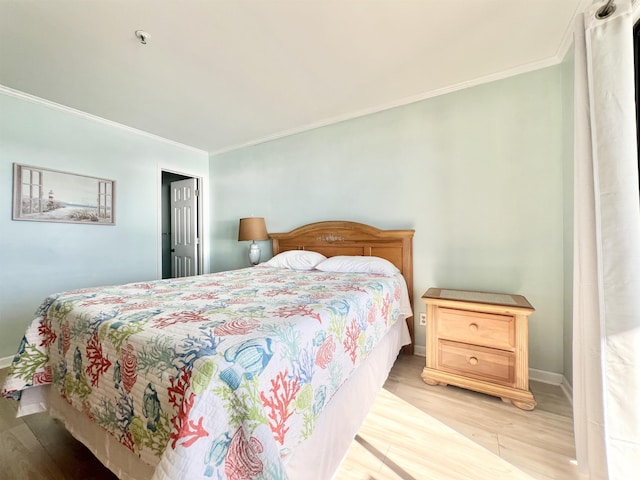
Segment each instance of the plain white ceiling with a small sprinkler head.
M587 3L0 0L0 85L221 152L556 64Z

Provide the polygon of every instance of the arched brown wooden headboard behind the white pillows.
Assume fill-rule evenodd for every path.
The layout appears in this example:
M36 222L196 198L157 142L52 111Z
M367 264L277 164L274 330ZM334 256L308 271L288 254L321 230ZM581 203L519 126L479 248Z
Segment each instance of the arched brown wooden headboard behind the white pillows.
M287 233L270 233L273 254L288 250L311 250L326 257L336 255L375 256L393 263L407 282L413 306L413 233L414 230L380 230L355 222L317 222ZM407 319L411 345L404 353L413 354L413 317Z

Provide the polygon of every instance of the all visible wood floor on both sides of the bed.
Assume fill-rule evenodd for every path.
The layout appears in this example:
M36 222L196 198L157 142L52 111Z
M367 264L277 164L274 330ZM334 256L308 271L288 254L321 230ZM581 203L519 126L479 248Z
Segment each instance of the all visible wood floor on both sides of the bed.
M424 358L401 355L336 479L579 479L571 405L560 387L531 382L526 412L487 395L422 382ZM0 370L0 383L6 369ZM114 480L46 414L15 418L0 399L0 479ZM312 468L310 466L310 468Z

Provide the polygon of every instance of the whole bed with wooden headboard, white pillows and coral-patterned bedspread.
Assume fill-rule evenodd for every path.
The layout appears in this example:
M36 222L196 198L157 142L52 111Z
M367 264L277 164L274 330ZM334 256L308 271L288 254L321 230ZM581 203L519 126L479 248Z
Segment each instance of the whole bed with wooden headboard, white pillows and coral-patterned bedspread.
M48 297L3 395L122 479L331 478L412 351L413 231L270 237L257 267Z

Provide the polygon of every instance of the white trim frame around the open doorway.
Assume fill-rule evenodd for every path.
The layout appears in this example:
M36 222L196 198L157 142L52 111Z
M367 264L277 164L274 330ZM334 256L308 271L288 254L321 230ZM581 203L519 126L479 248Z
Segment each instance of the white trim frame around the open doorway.
M209 272L209 252L206 248L208 243L208 232L209 225L206 222L208 218L208 201L207 201L207 183L205 179L200 175L195 175L191 172L185 172L176 170L173 168L158 168L158 234L157 234L157 252L158 252L158 266L156 276L158 279L162 279L162 217L163 213L165 213L165 209L167 208L162 201L162 173L171 173L175 175L182 175L183 177L194 178L198 185L198 197L197 197L197 208L198 214L196 215L196 221L198 223L198 275ZM206 266L206 268L205 268Z

